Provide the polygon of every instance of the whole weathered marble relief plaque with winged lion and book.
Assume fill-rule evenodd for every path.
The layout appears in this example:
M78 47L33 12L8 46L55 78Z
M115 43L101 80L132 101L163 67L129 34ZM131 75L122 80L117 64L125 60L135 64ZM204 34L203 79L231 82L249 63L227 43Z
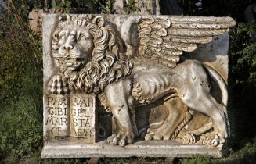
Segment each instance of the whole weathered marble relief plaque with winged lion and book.
M210 52L195 50L213 38L227 45L222 37L235 25L232 18L83 14L43 19L44 157L60 157L50 152L63 144L80 148L66 157L147 156L150 145L169 148L152 155L171 156L173 143L181 151L184 145L186 151L201 146L201 154L222 150L230 133L222 67L227 63L216 64ZM113 133L101 141L99 109L113 116ZM148 146L148 152L131 154L133 145Z

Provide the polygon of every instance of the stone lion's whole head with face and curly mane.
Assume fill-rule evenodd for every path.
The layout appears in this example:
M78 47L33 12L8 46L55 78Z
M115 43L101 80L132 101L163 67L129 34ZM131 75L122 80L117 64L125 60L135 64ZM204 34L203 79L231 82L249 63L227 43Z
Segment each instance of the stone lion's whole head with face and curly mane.
M59 73L74 91L99 93L131 73L123 43L102 16L62 16L52 37L52 55Z

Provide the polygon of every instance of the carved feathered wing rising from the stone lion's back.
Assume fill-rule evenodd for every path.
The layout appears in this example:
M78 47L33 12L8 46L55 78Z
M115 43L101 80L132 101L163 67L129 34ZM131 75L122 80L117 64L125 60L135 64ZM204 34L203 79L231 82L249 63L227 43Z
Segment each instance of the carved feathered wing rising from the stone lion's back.
M197 44L211 42L235 24L230 17L131 16L121 27L121 37L128 55L175 67L183 52L193 52Z

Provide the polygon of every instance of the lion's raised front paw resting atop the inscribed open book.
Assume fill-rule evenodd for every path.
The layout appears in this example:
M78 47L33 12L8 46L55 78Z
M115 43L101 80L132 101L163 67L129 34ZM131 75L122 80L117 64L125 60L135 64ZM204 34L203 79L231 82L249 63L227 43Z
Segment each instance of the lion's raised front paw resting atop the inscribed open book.
M53 75L48 83L49 94L68 94L67 82L59 74Z

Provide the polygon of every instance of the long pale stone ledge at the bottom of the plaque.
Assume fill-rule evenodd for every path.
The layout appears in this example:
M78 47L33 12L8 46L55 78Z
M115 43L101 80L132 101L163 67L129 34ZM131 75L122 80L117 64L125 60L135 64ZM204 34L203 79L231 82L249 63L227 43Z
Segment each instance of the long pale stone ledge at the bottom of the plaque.
M106 141L81 144L74 141L46 141L42 158L91 158L91 157L193 157L209 155L222 157L218 148L200 144L180 144L176 141L135 141L125 147L112 146Z

